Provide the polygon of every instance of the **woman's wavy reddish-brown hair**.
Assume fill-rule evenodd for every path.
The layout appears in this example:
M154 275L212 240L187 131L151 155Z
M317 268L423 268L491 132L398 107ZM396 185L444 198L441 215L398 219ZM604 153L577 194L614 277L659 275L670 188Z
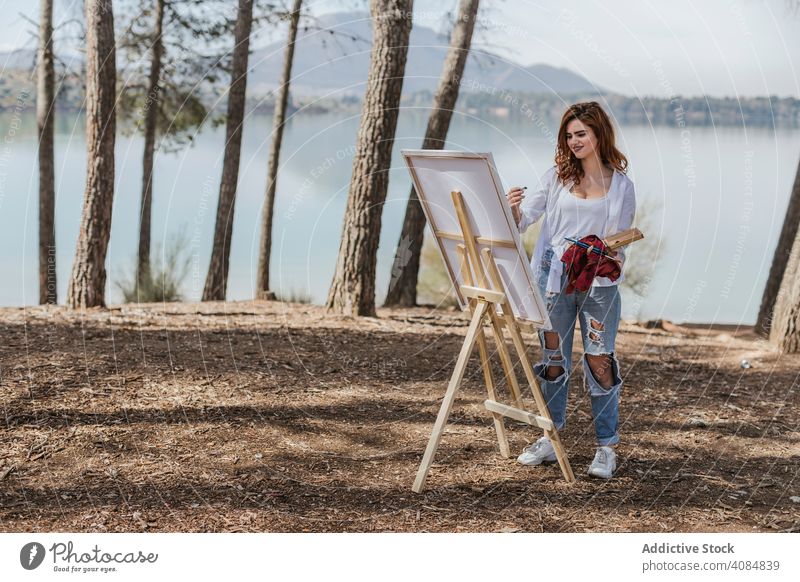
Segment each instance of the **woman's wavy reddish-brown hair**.
M558 179L561 183L572 182L574 185L578 185L584 176L580 160L567 146L567 125L573 119L592 128L597 138L597 152L600 154L600 161L603 165L611 166L624 174L628 168L628 159L617 149L614 126L611 124L608 114L603 111L597 101L586 101L570 105L561 117L555 159Z

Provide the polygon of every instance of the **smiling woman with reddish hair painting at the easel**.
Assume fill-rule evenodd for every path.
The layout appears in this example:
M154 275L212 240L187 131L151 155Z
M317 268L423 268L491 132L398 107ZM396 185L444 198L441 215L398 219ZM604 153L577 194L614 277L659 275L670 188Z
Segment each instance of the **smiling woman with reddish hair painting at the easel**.
M557 430L566 423L567 394L575 319L583 339L583 369L589 383L597 452L589 474L608 479L616 469L619 442L619 393L622 378L614 355L621 301L619 279L596 277L587 292L567 294L567 272L560 261L570 242L564 237L606 237L631 227L636 212L633 182L625 175L628 161L614 143L608 115L594 101L570 106L561 119L556 165L527 197L512 188L508 202L520 231L544 216L532 260L551 327L539 330L543 359L535 366ZM623 250L612 253L620 265ZM528 445L517 459L524 465L555 461L546 436Z

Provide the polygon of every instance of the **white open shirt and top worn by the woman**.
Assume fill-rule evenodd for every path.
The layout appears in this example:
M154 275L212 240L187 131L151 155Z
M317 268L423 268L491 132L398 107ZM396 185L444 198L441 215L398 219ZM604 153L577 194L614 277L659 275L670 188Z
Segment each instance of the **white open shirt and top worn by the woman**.
M528 192L520 205L520 232L544 215L544 223L536 241L531 266L537 273L547 247L553 249L553 260L547 279L547 291L558 293L561 290L561 274L564 264L561 256L572 244L564 237L581 238L590 234L601 238L631 228L636 214L636 192L633 182L625 174L614 170L608 193L602 198L584 200L570 190L572 183L558 181L556 166L553 166L540 180L539 188ZM617 258L625 263L625 249L617 250ZM612 281L608 277L595 277L594 287L616 285L624 279Z

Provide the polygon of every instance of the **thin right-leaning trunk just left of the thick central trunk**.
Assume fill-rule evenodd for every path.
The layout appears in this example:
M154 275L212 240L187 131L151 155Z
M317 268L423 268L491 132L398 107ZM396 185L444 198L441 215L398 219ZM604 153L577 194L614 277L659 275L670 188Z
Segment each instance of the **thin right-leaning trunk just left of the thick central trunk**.
M256 275L256 299L274 299L275 294L269 288L269 258L272 251L272 215L275 208L275 186L278 179L278 161L280 159L281 141L283 140L283 124L286 119L286 106L289 102L289 83L292 78L292 61L294 59L294 43L300 22L302 0L294 0L289 38L286 42L286 54L283 59L278 97L275 100L275 113L272 117L272 142L269 146L269 162L267 168L267 192L264 196L264 211L261 219L261 245L258 254L258 273Z

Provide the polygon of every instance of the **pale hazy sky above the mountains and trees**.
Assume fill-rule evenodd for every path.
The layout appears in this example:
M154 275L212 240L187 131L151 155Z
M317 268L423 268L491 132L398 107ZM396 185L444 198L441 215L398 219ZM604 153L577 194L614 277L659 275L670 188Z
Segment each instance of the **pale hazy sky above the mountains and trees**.
M78 0L55 4L57 22L80 13ZM366 5L307 2L314 14ZM415 23L439 29L456 6L416 0ZM19 14L37 19L38 2L0 7L0 50L33 48L32 27ZM567 68L625 95L800 98L800 0L483 0L479 18L481 49L523 66Z

